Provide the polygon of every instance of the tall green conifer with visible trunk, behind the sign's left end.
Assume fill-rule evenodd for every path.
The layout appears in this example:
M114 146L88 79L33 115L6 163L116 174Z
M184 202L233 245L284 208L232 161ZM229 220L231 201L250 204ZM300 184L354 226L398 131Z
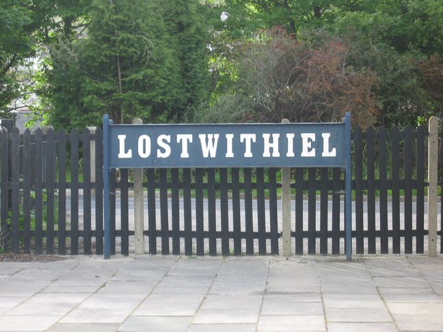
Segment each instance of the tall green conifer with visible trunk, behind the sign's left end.
M93 1L88 34L53 51L49 84L57 126L117 123L142 117L163 121L174 103L178 69L152 1ZM66 112L68 108L68 112Z

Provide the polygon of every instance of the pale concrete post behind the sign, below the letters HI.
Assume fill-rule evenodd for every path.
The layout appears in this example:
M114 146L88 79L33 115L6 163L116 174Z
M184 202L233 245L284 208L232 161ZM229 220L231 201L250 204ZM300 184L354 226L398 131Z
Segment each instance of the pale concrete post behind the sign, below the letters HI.
M288 119L282 120L282 124L288 123ZM282 241L283 255L291 256L291 167L282 168Z

